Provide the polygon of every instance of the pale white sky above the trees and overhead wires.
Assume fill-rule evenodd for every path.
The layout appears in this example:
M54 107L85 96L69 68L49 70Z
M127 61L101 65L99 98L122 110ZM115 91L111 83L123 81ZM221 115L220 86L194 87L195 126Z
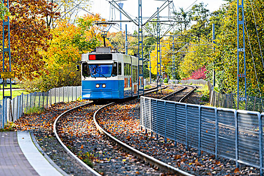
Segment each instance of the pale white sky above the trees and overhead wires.
M92 0L89 12L92 12L94 14L98 13L101 15L101 17L105 18L106 20L119 20L120 13L117 10L111 10L110 3L108 1L111 0ZM207 9L209 9L210 12L218 10L221 5L225 4L223 0L173 0L173 4L176 10L179 10L179 8L183 8L184 10L187 8L190 9L193 3L200 4L202 2L207 5ZM118 0L116 0L116 3L123 3L123 10L127 12L132 19L138 17L138 0L127 0L122 2L118 2ZM142 0L142 16L152 16L157 11L157 8L161 7L163 4L164 1ZM166 8L161 12L160 16L168 16L168 14L169 11L168 8ZM128 19L122 15L122 20ZM125 24L127 24L127 30L129 32L138 30L138 27L136 25L133 25L132 23L122 23L122 30L125 30ZM112 27L109 31L117 32L118 30L116 29L120 30L119 26L120 23L114 25L115 29Z

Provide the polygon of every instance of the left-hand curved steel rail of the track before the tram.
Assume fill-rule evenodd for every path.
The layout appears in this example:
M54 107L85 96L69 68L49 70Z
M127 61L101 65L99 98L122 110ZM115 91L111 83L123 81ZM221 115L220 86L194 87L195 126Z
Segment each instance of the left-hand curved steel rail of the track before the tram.
M78 108L81 108L81 107L84 107L84 106L87 106L87 105L92 105L93 104L93 102L91 102L91 103L87 103L87 104L84 104L84 105L80 105L80 106L77 106L77 107L75 107L75 108L72 108L72 109L70 109L70 110L68 110L68 111L65 111L64 113L62 113L62 114L60 114L57 118L56 118L56 120L54 121L54 123L53 123L53 132L54 132L54 134L55 134L55 136L56 136L56 138L57 138L57 140L59 141L59 143L61 144L61 146L71 155L71 156L73 156L79 163L81 163L84 167L86 167L89 171L91 171L91 173L92 173L92 175L96 175L96 176L101 176L101 174L99 174L98 172L96 172L94 169L92 169L91 167L89 167L86 163L84 163L80 158L78 158L71 150L69 150L69 148L67 148L67 146L66 145L64 145L63 144L63 142L60 140L60 138L59 138L59 136L58 136L58 134L57 134L57 131L56 131L56 123L57 123L57 121L58 121L58 119L60 118L60 117L62 117L64 114L67 114L67 113L69 113L69 112L71 112L71 111L73 111L73 110L76 110L76 109L78 109Z

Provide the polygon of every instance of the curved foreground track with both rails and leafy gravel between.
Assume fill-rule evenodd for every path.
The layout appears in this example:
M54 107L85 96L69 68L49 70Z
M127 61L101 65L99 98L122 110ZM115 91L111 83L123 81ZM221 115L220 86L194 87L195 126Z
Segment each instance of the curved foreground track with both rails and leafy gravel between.
M150 90L150 92L154 91L156 91L155 87ZM97 122L96 117L103 109L113 105L114 103L105 106L95 105L94 103L85 104L62 113L53 124L54 134L63 148L90 170L91 174L160 175L162 173L173 173L176 175L191 175L155 159L107 133L99 125L100 123ZM97 129L103 135L99 134ZM117 146L113 145L108 139L116 143ZM139 160L138 157L143 160ZM144 160L147 162L144 162Z

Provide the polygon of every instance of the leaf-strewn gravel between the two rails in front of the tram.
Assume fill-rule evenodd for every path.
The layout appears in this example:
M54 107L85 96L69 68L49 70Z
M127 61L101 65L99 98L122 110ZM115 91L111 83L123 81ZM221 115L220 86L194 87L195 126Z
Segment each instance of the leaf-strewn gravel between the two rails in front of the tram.
M63 143L103 175L162 175L157 167L137 159L99 134L93 114L100 107L87 106L59 119L57 131Z

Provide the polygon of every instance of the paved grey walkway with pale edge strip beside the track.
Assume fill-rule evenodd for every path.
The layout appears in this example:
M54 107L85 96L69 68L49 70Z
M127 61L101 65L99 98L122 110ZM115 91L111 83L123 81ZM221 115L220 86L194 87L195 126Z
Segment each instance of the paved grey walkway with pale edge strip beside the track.
M38 151L29 132L0 132L0 175L62 174Z

